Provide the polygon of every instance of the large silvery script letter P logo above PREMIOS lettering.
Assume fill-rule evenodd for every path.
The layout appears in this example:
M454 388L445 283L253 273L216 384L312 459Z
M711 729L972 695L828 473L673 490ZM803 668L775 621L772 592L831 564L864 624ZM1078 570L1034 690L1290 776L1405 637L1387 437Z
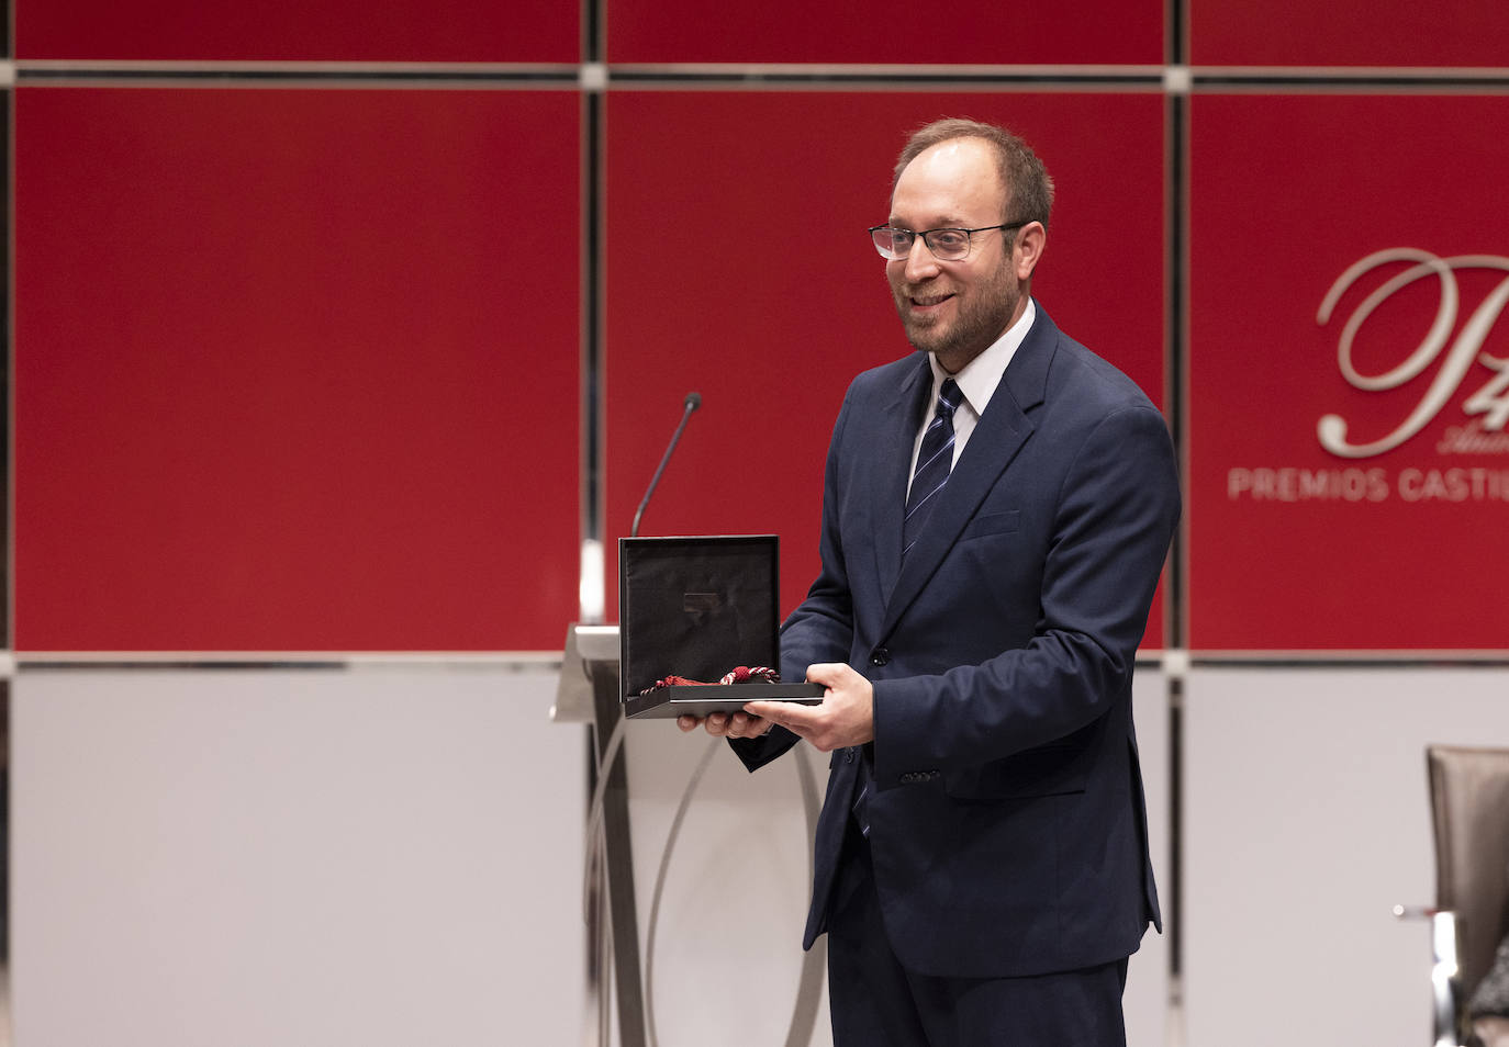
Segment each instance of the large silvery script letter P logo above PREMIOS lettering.
M1461 305L1461 290L1458 288L1453 270L1492 269L1509 273L1509 258L1498 258L1495 255L1458 255L1455 258L1438 258L1428 250L1415 250L1414 247L1391 247L1363 258L1360 263L1342 273L1335 284L1331 285L1331 290L1326 291L1325 300L1320 303L1320 311L1316 315L1316 321L1320 324L1328 323L1331 320L1331 312L1335 309L1337 300L1349 287L1352 287L1352 284L1357 282L1358 278L1373 269L1378 269L1379 266L1388 266L1391 263L1414 264L1390 278L1382 287L1369 294L1360 306L1357 306L1357 311L1348 317L1346 324L1342 327L1342 338L1337 342L1337 364L1342 368L1342 376L1354 388L1366 389L1369 392L1397 389L1405 382L1418 377L1437 361L1437 358L1441 356L1441 350L1446 347L1452 336L1452 329L1456 326L1456 315ZM1391 371L1385 371L1384 374L1360 374L1352 365L1352 342L1355 341L1363 321L1366 321L1367 317L1372 315L1373 309L1385 302L1394 291L1426 276L1435 276L1440 282L1441 300L1437 305L1435 320L1431 323L1431 329L1426 332L1424 338L1414 348L1414 352ZM1504 422L1509 421L1509 361L1501 361L1489 353L1485 353L1483 341L1488 338L1488 332L1492 330L1492 326L1498 320L1498 314L1503 312L1506 303L1509 303L1509 276L1494 287L1494 290L1483 299L1482 305L1479 305L1477 309L1473 311L1473 315L1467 318L1467 323L1462 324L1456 339L1452 341L1450 348L1446 352L1444 361L1435 373L1435 379L1431 382L1431 388L1426 389L1420 403L1415 404L1414 410L1409 412L1396 430L1373 441L1372 444L1348 444L1346 419L1340 415L1325 415L1316 425L1316 434L1320 438L1320 445L1331 454L1343 459L1366 459L1375 454L1382 454L1384 451L1391 451L1424 428L1426 424L1429 424L1429 421L1440 413L1441 407L1446 406L1446 401L1452 398L1452 394L1461 388L1462 380L1467 377L1467 371L1473 367L1474 361L1494 371L1494 377L1491 377L1477 392L1468 397L1464 401L1462 409L1468 415L1485 415L1485 430L1501 430Z

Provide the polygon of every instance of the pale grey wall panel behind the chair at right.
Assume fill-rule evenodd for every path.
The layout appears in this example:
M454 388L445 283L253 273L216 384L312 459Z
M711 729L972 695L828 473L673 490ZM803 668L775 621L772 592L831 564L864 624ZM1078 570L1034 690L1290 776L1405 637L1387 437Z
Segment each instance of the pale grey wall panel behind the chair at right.
M1509 670L1195 670L1189 1044L1429 1041L1424 747L1509 745Z

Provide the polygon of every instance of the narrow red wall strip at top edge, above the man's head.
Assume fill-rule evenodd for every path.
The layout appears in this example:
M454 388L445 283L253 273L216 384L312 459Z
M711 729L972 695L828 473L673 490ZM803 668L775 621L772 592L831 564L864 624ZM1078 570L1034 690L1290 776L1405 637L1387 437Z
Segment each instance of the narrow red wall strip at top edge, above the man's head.
M1163 60L1162 0L724 5L610 0L610 62L1135 63Z

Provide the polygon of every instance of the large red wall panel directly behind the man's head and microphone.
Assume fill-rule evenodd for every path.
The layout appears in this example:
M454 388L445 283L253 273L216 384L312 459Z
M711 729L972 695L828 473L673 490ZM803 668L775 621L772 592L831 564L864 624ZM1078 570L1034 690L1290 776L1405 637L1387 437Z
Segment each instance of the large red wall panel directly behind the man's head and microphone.
M782 536L782 611L816 575L822 462L850 379L910 352L866 228L905 134L1017 130L1058 181L1034 291L1154 397L1163 383L1162 100L629 94L608 106L607 533ZM610 564L616 548L610 545ZM611 573L611 572L610 572ZM616 608L610 587L610 614ZM1154 613L1147 646L1162 643Z

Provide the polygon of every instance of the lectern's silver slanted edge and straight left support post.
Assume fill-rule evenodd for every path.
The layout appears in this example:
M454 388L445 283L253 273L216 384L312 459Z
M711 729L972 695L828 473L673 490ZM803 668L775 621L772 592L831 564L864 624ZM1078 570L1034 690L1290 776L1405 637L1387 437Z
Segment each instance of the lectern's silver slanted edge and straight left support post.
M592 724L590 791L602 795L602 861L595 866L595 883L590 884L599 904L592 919L595 923L608 920L613 943L611 949L601 944L595 947L593 973L601 1006L607 1006L610 984L617 996L619 1042L623 1047L644 1047L644 988L640 975L638 914L634 907L629 786L622 747L617 744L622 741L623 721L620 689L619 628L572 625L566 631L551 720ZM604 771L602 781L596 780L598 768ZM607 911L602 902L607 902ZM592 941L602 943L602 934L598 934L601 928L592 929Z

